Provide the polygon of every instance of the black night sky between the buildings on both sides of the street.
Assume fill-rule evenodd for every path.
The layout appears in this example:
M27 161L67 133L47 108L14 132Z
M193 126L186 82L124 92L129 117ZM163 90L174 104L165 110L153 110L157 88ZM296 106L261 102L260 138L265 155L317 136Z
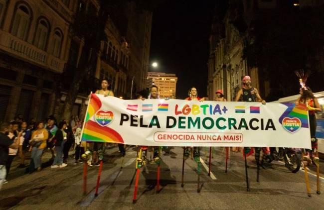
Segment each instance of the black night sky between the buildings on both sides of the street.
M176 74L177 99L187 97L192 86L206 96L214 9L215 0L165 0L153 11L150 61L159 68L149 71Z

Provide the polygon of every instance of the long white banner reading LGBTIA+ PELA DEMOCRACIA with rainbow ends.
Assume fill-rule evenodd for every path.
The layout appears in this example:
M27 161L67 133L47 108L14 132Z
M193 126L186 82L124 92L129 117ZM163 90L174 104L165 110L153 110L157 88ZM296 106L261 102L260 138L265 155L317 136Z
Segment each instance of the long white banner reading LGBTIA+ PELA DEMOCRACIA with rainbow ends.
M311 148L306 105L121 100L92 94L82 141Z

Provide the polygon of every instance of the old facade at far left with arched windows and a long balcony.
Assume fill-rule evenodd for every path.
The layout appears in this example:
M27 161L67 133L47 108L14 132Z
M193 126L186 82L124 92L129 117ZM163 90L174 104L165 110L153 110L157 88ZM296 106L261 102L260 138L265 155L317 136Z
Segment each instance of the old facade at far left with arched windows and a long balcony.
M0 120L54 112L76 9L77 0L0 0Z

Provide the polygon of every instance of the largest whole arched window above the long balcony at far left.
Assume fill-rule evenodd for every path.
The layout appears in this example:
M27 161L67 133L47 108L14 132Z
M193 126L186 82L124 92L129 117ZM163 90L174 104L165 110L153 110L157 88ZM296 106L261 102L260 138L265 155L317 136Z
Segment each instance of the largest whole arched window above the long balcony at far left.
M20 39L26 40L31 22L31 11L25 4L18 4L11 26L11 33Z

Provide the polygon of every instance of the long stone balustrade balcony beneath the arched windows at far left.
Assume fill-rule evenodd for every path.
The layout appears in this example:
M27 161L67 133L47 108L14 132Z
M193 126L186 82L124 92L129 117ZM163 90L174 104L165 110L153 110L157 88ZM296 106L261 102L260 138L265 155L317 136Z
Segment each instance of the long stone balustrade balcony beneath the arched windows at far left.
M0 31L0 49L42 68L62 73L64 61L8 32Z

